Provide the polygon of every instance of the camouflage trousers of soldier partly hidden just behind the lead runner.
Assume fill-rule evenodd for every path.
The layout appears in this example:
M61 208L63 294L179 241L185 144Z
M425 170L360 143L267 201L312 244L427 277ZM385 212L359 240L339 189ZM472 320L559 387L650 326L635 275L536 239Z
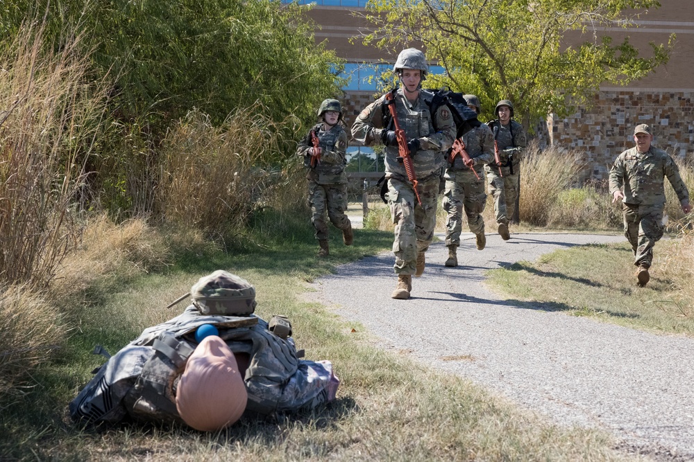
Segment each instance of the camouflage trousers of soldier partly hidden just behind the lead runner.
M463 228L463 211L470 231L484 233L482 212L486 206L484 176L480 179L470 170L448 170L446 189L443 191L443 210L446 219L446 245L460 245L460 232Z

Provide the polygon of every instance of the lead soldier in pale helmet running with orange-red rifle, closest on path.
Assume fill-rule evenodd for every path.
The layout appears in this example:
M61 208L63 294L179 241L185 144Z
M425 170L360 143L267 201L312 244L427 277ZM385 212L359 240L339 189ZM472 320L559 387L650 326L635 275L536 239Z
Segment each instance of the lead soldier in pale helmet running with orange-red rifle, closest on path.
M393 299L408 299L412 274L421 276L424 271L424 254L434 237L443 152L455 139L450 109L441 105L432 114L425 102L421 82L426 78L427 69L424 53L416 48L403 50L393 66L393 72L400 78L400 88L393 91L396 114L412 157L421 205L416 201L405 166L398 161L398 141L389 109L384 105L386 95L367 106L352 126L352 135L357 141L366 146L385 145L387 199L395 224L394 269L398 274L398 286L391 295Z

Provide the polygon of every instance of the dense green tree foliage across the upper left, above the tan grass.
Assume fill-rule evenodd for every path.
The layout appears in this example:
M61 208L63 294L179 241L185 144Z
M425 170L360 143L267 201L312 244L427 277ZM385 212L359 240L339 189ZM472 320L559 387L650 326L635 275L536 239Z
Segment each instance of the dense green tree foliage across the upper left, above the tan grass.
M49 43L66 25L85 34L96 71L112 78L116 118L163 124L149 130L165 130L193 107L220 123L256 102L275 121L292 114L307 122L338 93L330 66L339 60L314 44L302 8L270 0L6 0L0 30L11 35L45 13Z

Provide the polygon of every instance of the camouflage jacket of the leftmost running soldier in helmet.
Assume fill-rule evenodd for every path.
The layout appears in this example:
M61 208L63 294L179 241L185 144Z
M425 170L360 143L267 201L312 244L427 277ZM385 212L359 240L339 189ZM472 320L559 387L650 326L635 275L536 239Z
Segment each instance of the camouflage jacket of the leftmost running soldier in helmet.
M321 147L321 160L315 168L311 168L311 156L308 153L313 148L311 132L316 132ZM345 166L347 150L347 132L340 125L333 126L327 132L323 124L315 125L301 142L298 143L296 154L303 157L304 166L308 167L306 177L318 184L341 184L347 182Z

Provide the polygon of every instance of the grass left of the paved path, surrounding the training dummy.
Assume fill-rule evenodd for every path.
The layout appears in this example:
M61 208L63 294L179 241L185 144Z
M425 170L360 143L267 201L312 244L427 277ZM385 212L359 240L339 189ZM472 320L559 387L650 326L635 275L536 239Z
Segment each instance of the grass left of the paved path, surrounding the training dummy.
M613 450L606 434L550 425L460 377L385 352L359 324L306 301L306 281L388 249L392 239L389 232L356 230L355 245L345 247L335 229L331 235L326 259L316 258L307 226L296 225L262 247L253 240L228 251L177 251L165 272L94 285L94 301L71 312L74 332L66 348L35 371L23 398L3 408L0 460L636 460ZM216 434L153 425L74 426L67 404L103 362L90 355L94 344L115 353L143 328L174 317L186 303L164 307L213 269L253 283L264 319L289 316L307 359L335 364L338 399L308 414L244 418Z

